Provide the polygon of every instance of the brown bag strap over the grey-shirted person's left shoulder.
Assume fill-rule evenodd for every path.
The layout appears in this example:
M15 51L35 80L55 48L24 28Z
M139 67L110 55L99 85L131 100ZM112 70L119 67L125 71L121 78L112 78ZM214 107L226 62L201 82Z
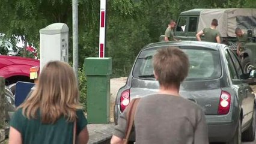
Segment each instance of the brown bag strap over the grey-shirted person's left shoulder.
M133 127L133 122L134 122L134 117L135 117L135 112L137 110L137 106L139 103L139 100L141 100L141 98L135 98L130 102L129 107L127 107L129 110L126 114L126 119L127 119L127 127L126 127L126 134L124 136L124 140L123 143L127 143L130 137L130 133L132 131L132 127Z

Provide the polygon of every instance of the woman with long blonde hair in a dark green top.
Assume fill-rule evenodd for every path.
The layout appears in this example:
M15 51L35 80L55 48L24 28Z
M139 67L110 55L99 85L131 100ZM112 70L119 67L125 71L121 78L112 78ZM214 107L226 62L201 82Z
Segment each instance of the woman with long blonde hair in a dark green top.
M34 91L10 122L10 144L87 143L87 119L78 101L78 86L72 67L64 62L46 64Z

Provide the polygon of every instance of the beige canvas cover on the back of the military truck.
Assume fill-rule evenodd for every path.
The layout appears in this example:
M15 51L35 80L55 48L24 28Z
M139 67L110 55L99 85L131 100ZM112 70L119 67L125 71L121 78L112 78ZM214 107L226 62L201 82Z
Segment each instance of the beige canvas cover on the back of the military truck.
M198 32L210 27L212 19L218 19L218 31L221 37L236 37L234 33L238 27L246 32L252 29L256 34L256 9L255 8L225 8L203 9L200 13Z

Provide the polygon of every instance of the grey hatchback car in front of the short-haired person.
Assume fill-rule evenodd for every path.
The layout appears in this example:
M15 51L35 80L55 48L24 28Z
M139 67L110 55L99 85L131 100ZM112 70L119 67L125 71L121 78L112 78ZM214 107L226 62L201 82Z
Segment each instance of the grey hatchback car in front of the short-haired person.
M189 75L180 86L182 97L204 110L210 142L239 143L255 136L255 96L236 54L225 44L201 41L169 41L148 44L136 58L126 85L119 89L114 108L117 119L133 98L156 94L159 83L153 75L157 49L175 46L189 57ZM157 118L156 124L157 124ZM242 134L242 136L241 136ZM134 139L134 133L130 140Z

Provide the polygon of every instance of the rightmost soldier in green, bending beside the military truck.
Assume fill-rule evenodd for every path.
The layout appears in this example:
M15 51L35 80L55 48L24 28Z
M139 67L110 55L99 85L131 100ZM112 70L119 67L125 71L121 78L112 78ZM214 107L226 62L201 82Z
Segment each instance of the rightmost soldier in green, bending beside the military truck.
M235 29L235 34L237 36L237 55L245 50L245 43L248 42L248 36L240 28Z

